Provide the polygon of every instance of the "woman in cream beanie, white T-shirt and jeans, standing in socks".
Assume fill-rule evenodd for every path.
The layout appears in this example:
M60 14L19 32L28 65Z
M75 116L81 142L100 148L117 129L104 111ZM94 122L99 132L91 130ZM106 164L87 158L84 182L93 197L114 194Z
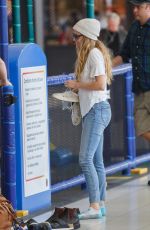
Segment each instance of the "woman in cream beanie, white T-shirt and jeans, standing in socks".
M107 84L111 83L111 61L106 47L98 40L100 22L85 18L73 26L77 60L77 80L65 86L78 91L83 119L79 164L89 192L89 209L80 219L106 215L106 175L103 163L103 135L111 119Z

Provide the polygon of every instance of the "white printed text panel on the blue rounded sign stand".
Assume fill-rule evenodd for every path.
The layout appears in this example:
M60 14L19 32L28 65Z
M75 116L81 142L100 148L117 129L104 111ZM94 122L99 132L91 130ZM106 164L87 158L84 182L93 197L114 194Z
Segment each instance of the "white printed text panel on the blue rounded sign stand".
M25 197L49 189L46 66L21 69Z

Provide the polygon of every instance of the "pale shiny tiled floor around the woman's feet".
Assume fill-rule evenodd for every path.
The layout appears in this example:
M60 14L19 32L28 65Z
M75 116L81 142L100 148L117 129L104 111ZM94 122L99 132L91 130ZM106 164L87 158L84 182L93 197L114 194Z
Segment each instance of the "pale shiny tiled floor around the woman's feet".
M108 189L107 217L81 221L81 230L150 230L150 186L148 176L125 182ZM69 203L68 207L87 209L87 197ZM50 213L37 216L43 221Z

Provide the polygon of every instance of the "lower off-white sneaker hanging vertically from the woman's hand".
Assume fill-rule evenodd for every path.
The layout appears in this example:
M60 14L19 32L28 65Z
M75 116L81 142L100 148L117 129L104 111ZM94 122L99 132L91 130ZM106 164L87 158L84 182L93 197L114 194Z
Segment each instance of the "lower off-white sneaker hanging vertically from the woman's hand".
M71 111L71 120L72 124L77 126L81 122L81 111L80 111L80 104L79 102L74 102L72 104L72 111Z

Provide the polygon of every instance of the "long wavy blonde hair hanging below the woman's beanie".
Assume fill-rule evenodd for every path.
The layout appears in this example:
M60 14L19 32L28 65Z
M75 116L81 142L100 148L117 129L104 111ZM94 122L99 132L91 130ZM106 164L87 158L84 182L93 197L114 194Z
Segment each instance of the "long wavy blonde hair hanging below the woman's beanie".
M86 60L88 58L88 54L93 48L99 49L103 54L107 84L110 85L112 81L112 64L111 64L109 50L105 47L105 45L101 41L99 40L94 41L84 36L80 48L77 48L77 60L75 64L76 78L78 81L80 81L81 73L84 69Z

